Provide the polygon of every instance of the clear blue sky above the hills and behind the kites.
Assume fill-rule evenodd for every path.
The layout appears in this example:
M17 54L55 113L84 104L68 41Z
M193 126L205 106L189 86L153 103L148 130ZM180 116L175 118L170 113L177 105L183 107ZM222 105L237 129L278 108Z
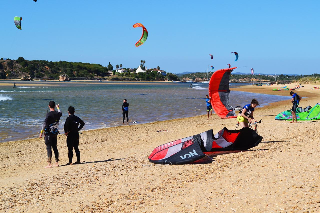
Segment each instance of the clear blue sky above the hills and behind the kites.
M1 1L0 57L312 74L320 59L320 1ZM22 30L14 26L21 16ZM140 47L142 23L149 32ZM238 61L230 52L239 53ZM213 60L209 54L213 55Z

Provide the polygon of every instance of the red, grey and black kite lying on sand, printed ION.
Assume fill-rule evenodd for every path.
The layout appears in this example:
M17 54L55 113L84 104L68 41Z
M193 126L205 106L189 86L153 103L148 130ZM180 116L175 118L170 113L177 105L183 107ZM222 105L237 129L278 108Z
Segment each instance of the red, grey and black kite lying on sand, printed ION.
M213 136L208 130L156 147L149 161L157 164L186 164L197 161L204 153L225 150L246 150L258 146L262 137L249 127L240 130L223 128Z

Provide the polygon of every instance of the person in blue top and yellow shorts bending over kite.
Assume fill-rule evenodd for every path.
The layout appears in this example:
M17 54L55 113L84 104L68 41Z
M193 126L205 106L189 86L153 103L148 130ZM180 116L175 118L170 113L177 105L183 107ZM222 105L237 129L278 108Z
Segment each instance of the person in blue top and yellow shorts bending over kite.
M252 99L251 104L245 105L243 110L238 114L237 121L242 128L249 127L249 123L252 123L252 121L257 122L253 117L253 111L258 105L259 102L256 99Z

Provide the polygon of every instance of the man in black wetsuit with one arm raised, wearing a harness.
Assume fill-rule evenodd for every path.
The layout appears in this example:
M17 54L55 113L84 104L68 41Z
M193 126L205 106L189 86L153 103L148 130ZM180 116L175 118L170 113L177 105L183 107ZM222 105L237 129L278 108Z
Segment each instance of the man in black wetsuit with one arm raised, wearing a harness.
M51 168L51 158L52 158L52 151L51 147L54 152L54 157L56 158L56 164L53 165L59 166L59 152L57 148L57 136L59 130L59 121L60 117L62 116L62 112L60 111L59 104L57 105L58 112L54 110L56 103L54 101L49 102L50 112L47 113L44 119L44 124L42 126L42 130L40 132L39 138L42 138L42 133L44 132L44 143L47 146L47 154L48 154L48 166L44 168Z

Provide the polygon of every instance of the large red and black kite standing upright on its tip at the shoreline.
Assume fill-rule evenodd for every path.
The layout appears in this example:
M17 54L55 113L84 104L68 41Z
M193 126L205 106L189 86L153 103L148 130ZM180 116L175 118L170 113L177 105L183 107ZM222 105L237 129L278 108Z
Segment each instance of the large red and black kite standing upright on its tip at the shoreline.
M209 96L211 97L211 105L214 112L221 118L236 118L235 110L242 110L242 107L229 106L229 76L233 69L220 69L215 71L209 82Z

